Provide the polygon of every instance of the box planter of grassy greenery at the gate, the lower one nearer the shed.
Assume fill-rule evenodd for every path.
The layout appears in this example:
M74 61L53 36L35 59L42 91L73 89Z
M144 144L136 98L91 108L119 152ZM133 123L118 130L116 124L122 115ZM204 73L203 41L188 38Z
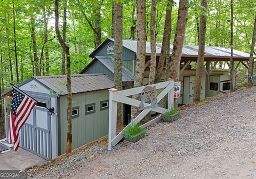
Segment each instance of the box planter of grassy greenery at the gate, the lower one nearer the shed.
M129 125L124 129L123 135L124 139L135 143L145 137L146 129L141 128L138 124Z

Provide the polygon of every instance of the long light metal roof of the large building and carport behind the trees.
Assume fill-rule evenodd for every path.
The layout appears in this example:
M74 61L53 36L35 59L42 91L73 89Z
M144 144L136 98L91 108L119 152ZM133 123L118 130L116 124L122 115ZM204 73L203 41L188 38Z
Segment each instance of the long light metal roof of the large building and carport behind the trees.
M114 38L107 38L100 46L98 46L89 56L92 57L103 45L109 40L115 41ZM137 40L123 39L123 46L129 50L137 53ZM161 53L162 43L156 43L156 54ZM172 54L173 45L170 45L170 54ZM230 58L230 48L218 47L218 46L205 46L205 57L206 58ZM146 55L150 55L150 42L146 42ZM183 45L182 57L197 57L198 56L198 45ZM250 54L233 50L233 58L249 59ZM254 56L256 58L256 56Z

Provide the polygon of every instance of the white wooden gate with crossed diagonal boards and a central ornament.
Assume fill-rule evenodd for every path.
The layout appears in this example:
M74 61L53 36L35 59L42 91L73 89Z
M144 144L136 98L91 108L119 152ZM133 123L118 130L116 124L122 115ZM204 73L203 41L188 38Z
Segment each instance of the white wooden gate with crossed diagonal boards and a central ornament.
M125 103L132 105L134 107L140 107L141 101L132 99L130 95L134 94L140 94L143 92L143 90L146 87L152 87L155 88L156 90L164 88L164 90L157 95L157 103L163 99L163 97L168 94L168 109L173 108L173 96L174 96L174 81L172 79L167 79L167 82L162 82L162 83L157 83L157 84L152 84L148 86L141 86L137 88L131 88L129 90L123 90L123 91L118 91L115 88L109 89L109 129L108 129L108 150L111 150L112 147L115 147L115 145L123 139L123 131L125 128L129 125L135 125L138 124L143 117L147 115L150 111L155 111L159 113L164 113L168 109L158 107L157 105L151 107L151 104L143 102L144 109L139 113L137 117L135 117L129 125L127 125L123 131L121 131L118 135L116 135L116 120L117 120L117 102ZM162 117L159 116L153 120L150 120L148 123L143 124L141 127L145 128L151 124L156 123L159 121Z

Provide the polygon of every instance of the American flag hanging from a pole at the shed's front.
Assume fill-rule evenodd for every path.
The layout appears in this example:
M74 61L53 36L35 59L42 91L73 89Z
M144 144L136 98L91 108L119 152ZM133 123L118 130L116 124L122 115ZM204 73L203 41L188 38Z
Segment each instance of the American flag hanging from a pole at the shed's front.
M20 145L20 129L28 119L35 105L35 100L12 87L9 143L13 143L14 151L17 151Z

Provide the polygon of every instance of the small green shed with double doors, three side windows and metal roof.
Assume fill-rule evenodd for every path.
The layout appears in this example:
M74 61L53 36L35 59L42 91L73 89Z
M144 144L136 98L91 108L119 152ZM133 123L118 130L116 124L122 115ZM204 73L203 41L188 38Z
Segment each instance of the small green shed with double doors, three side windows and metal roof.
M66 152L67 141L67 77L31 77L17 85L38 101L21 129L20 147L51 160ZM81 147L108 134L108 89L113 78L102 74L71 76L72 90L72 149ZM3 94L5 107L11 91ZM45 108L52 108L49 113ZM10 113L5 110L5 123ZM9 125L6 125L9 131ZM6 133L8 138L8 133Z

